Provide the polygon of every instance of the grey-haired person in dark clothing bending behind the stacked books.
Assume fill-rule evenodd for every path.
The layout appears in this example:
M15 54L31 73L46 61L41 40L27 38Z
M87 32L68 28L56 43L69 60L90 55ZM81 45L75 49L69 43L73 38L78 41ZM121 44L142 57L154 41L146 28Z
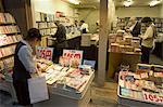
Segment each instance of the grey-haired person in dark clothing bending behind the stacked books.
M126 30L133 35L133 37L138 37L140 35L141 24L136 17L130 17Z

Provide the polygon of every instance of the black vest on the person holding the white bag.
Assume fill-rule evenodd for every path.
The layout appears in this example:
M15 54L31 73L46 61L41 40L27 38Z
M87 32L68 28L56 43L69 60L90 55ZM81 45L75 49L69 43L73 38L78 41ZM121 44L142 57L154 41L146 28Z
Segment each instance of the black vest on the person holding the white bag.
M26 45L23 42L18 42L15 49L14 54L14 68L13 68L13 80L14 81L26 81L30 78L29 71L27 71L23 65L23 63L18 58L18 51L20 49Z

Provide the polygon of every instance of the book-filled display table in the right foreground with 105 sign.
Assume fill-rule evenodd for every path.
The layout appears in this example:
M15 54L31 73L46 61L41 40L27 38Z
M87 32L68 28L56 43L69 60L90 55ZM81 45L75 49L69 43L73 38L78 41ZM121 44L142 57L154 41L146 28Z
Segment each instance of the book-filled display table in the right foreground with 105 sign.
M118 103L135 107L163 106L163 66L138 64L135 72L118 75Z

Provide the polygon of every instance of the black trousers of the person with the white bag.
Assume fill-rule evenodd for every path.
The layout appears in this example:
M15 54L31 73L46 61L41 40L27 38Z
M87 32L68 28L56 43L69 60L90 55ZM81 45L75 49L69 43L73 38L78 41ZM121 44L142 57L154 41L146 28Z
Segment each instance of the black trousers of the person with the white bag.
M16 92L18 104L23 105L23 106L30 105L27 80L13 81L13 85L14 85L14 89L15 89L15 92Z

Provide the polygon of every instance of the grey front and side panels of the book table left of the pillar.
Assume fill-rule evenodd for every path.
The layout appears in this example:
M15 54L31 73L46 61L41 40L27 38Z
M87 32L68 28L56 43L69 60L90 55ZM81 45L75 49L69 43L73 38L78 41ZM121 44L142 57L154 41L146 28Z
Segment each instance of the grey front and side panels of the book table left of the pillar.
M50 99L34 104L34 107L87 107L91 97L90 84L93 77L92 72L88 82L80 88L80 93L58 88L54 84L49 85Z

